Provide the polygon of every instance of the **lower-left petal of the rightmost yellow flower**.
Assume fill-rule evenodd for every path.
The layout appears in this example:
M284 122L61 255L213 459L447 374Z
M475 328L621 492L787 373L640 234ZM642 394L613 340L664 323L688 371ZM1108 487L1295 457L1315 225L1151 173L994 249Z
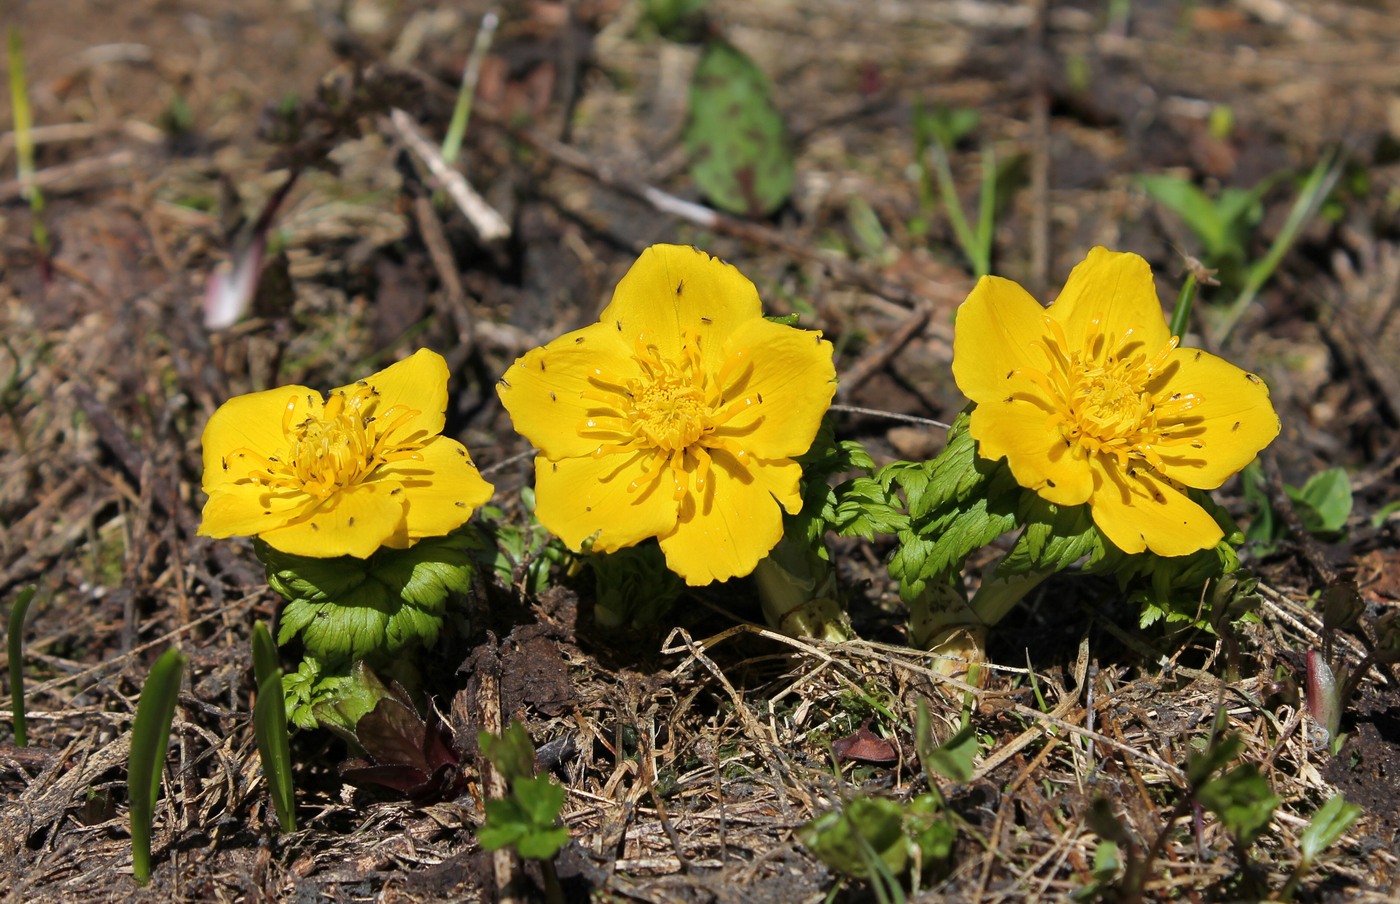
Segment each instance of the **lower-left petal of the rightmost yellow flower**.
M973 409L967 428L977 453L993 460L1005 456L1016 483L1050 502L1086 502L1093 479L1082 449L1049 423L1047 407L1032 400L1042 397L1037 386L1023 376L1005 382L1005 396Z

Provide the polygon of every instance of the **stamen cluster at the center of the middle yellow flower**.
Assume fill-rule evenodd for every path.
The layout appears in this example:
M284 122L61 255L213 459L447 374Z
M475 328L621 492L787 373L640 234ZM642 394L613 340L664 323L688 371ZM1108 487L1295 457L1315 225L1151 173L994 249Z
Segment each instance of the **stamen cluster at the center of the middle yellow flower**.
M743 392L750 368L745 367L742 351L711 374L700 355L699 336L685 334L675 360L662 358L657 346L638 336L631 360L637 375L615 378L594 371L592 389L584 392L584 399L596 407L578 427L578 435L599 441L594 458L617 453L641 458L643 474L627 486L629 493L645 495L665 474L671 476L676 501L689 493L704 493L711 449L722 449L748 465L749 453L739 445L738 434L725 432L725 424L736 414L763 402L762 395Z

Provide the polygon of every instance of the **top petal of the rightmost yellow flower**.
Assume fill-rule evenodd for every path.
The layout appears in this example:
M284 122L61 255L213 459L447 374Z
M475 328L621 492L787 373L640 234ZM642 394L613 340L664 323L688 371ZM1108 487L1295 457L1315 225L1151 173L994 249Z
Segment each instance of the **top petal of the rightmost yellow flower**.
M1064 325L1071 350L1089 346L1095 333L1112 333L1121 340L1127 330L1142 343L1148 355L1172 337L1156 297L1152 267L1142 257L1095 248L1070 271L1064 290L1050 305L1050 316Z

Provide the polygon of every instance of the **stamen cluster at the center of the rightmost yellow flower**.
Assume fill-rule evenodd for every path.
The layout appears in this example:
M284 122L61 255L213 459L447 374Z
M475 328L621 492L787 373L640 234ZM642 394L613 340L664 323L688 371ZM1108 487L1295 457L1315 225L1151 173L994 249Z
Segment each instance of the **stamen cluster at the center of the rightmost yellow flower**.
M1095 320L1084 347L1071 348L1057 320L1046 316L1044 323L1040 350L1049 367L1022 374L1043 393L1035 402L1049 409L1046 427L1084 452L1112 455L1121 467L1131 459L1161 467L1159 446L1184 438L1173 437L1173 428L1200 404L1197 393L1168 393L1158 381L1180 340L1173 336L1152 353L1134 327L1113 336Z

